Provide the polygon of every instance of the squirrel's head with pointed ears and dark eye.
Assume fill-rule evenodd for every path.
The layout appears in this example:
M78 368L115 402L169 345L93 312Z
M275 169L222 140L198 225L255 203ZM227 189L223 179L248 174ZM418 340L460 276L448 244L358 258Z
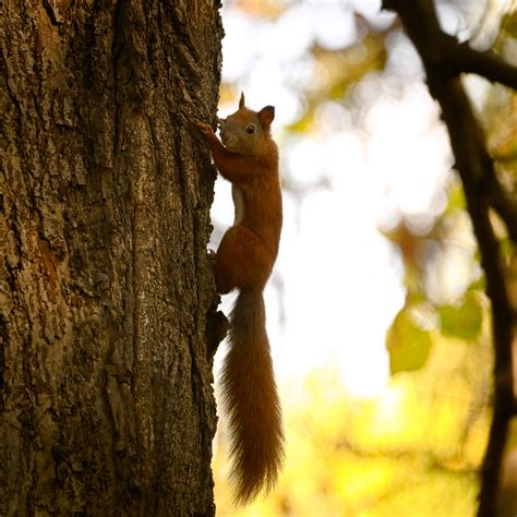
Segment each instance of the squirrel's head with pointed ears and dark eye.
M269 128L275 118L275 108L265 106L253 111L244 106L244 94L241 93L239 109L227 117L218 119L220 139L227 149L242 155L257 155L264 149L269 139Z

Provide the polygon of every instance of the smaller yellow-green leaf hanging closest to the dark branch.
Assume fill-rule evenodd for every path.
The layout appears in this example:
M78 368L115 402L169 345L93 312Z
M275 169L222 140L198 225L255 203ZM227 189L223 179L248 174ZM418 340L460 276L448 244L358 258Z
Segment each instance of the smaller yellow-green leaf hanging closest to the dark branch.
M473 293L468 293L459 305L441 306L438 314L444 336L471 341L481 332L483 310Z

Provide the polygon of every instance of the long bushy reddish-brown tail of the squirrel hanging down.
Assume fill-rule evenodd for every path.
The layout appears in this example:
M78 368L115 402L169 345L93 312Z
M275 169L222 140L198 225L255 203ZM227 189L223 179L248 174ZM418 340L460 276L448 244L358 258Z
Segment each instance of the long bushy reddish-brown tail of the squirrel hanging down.
M230 314L221 388L229 417L230 476L236 501L244 504L274 486L284 458L280 402L258 290L241 290Z

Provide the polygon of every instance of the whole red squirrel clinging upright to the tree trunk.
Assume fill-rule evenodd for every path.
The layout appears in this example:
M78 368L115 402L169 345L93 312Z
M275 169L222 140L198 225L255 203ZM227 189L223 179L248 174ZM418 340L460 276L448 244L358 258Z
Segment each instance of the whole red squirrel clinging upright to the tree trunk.
M236 501L248 503L276 483L284 457L278 398L263 290L278 254L281 191L278 149L270 136L275 108L244 106L219 119L221 142L212 128L196 121L220 175L231 182L235 223L216 253L217 292L239 289L229 317L229 349L223 364L221 392L229 417L230 478Z

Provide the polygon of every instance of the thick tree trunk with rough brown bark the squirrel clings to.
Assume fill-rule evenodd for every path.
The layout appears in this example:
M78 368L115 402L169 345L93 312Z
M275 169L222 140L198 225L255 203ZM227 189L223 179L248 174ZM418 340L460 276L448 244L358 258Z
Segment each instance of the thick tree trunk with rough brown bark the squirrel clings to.
M211 515L213 0L4 0L0 515Z

